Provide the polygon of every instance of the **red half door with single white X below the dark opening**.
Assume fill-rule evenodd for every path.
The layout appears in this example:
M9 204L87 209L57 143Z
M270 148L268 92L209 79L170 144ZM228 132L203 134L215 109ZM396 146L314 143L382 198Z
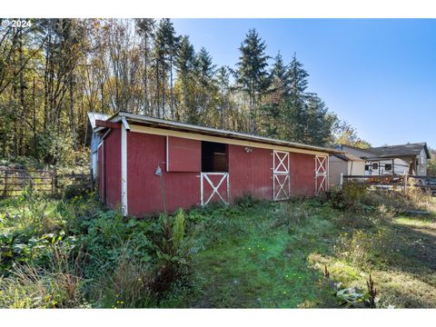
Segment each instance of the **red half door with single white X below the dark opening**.
M201 173L202 206L211 201L230 203L229 173Z

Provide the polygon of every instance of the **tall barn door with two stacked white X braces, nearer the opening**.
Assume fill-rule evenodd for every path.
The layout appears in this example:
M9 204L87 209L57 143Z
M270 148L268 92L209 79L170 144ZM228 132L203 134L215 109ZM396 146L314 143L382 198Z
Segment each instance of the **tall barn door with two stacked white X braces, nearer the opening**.
M291 195L289 153L274 150L272 170L273 200L279 201L289 199Z

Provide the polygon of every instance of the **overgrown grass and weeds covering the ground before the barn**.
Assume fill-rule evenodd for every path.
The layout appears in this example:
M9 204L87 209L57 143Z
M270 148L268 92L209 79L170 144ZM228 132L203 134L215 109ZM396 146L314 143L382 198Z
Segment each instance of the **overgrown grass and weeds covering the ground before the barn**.
M0 307L436 307L434 198L353 187L141 220L29 190L0 202Z

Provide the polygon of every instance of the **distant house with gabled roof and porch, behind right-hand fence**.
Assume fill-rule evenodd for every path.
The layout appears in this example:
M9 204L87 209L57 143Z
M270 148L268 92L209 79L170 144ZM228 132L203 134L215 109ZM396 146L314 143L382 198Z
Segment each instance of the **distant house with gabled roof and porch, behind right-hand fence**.
M340 144L339 150L365 160L366 175L427 175L427 162L431 158L426 143L384 145L367 149ZM359 173L352 173L358 175Z

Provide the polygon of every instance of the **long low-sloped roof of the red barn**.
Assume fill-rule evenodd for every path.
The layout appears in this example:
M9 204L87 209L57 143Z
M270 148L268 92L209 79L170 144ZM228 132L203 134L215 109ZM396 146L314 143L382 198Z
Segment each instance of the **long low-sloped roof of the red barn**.
M222 129L216 129L211 127L205 127L205 126L198 126L194 124L185 124L180 122L174 122L154 117L145 116L142 114L130 114L130 113L124 113L124 112L118 112L116 114L113 114L110 117L107 117L106 121L117 123L122 121L122 119L127 120L128 122L137 123L137 124L144 124L154 127L160 127L163 129L172 129L172 130L179 130L184 132L195 132L197 134L207 134L207 135L213 135L213 136L221 136L226 138L233 138L238 140L244 140L244 141L251 141L251 142L258 142L258 143L264 143L264 144L277 144L282 146L289 146L299 149L305 149L305 150L312 150L312 151L319 151L322 153L328 153L328 154L342 154L342 151L334 150L331 148L326 148L322 146L315 146L315 145L309 145L309 144L300 144L295 142L289 142L289 141L282 141L278 139L273 139L270 137L263 137L263 136L257 136L253 134L243 134L238 132L232 132L232 131L226 131ZM99 127L97 127L96 130L98 130Z

